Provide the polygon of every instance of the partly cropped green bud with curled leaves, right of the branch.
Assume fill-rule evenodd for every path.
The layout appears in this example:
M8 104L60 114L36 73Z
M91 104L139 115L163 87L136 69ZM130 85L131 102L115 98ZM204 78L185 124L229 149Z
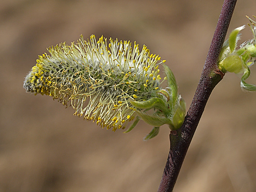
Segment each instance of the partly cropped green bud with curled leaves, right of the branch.
M249 17L248 17L249 18ZM245 80L250 75L249 67L256 62L256 22L249 18L249 26L252 30L253 39L241 44L239 49L237 48L237 42L239 40L238 33L244 29L245 26L234 29L229 36L229 39L223 44L218 66L223 72L231 72L236 74L243 74L241 78L241 87L247 91L256 91L256 86L248 84Z

